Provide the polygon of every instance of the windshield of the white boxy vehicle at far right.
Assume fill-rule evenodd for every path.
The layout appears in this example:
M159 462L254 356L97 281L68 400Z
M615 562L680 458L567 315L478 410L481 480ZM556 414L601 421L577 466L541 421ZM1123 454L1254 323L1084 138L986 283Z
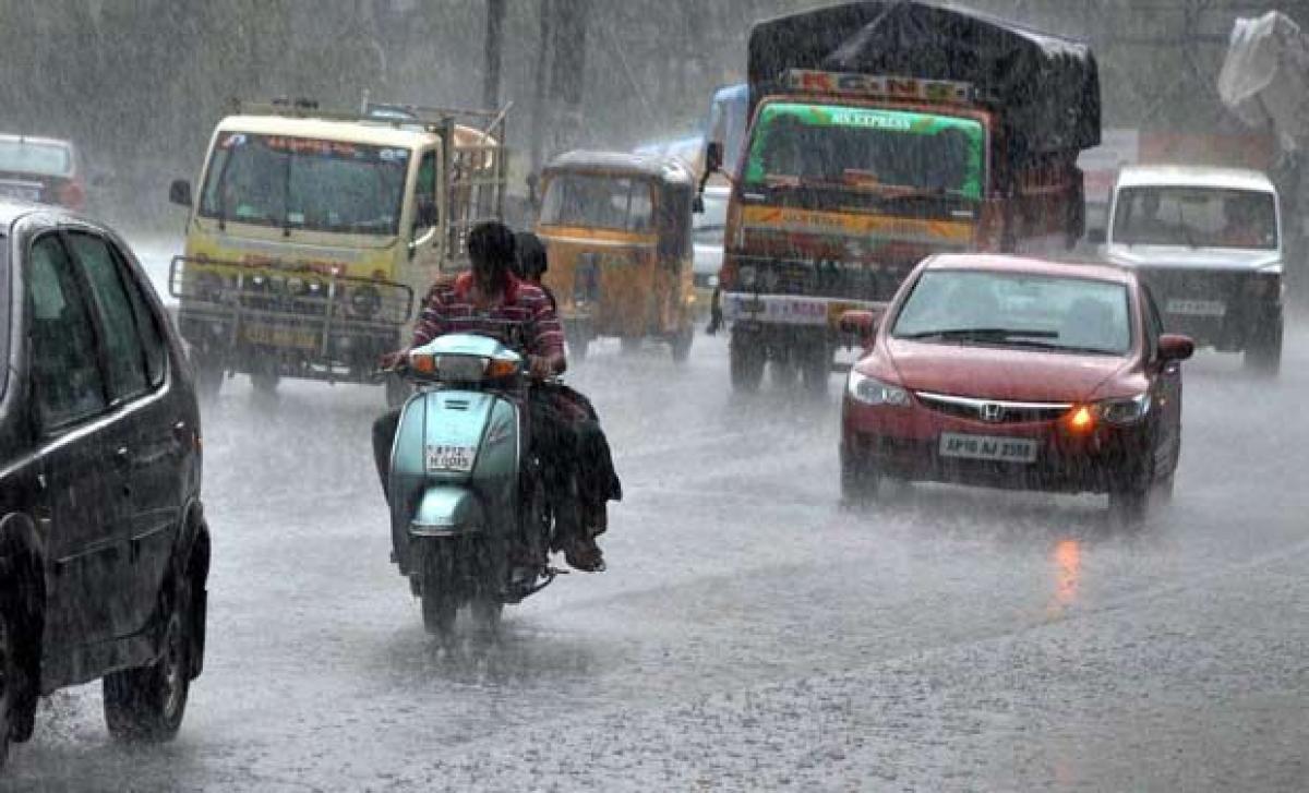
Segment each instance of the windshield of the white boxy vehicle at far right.
M1124 187L1114 208L1114 242L1186 247L1278 247L1271 192L1215 187Z

